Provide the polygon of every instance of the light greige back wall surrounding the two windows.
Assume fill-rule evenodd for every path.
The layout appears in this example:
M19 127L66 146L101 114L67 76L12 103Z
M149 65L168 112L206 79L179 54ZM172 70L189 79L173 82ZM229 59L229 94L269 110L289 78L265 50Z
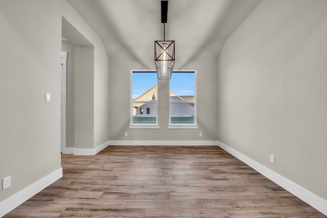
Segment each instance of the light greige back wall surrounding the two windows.
M185 60L176 61L175 69ZM169 81L158 83L158 123L160 129L129 129L130 70L154 69L123 50L110 59L109 92L110 140L217 140L217 59L194 59L182 69L197 70L197 119L199 129L168 129ZM125 137L128 132L128 137ZM202 132L202 137L199 137Z

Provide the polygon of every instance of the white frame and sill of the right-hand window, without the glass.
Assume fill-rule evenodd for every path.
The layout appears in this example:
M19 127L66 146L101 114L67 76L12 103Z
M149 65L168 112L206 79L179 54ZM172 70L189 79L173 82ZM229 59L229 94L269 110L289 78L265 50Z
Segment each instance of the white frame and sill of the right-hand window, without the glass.
M197 71L195 69L182 69L182 70L173 70L172 77L174 76L174 72L194 72L194 101L184 101L184 102L172 102L170 101L171 98L169 98L169 125L168 129L199 129L199 126L197 124ZM170 83L169 83L169 92L170 89ZM194 104L194 124L172 124L171 123L171 104Z

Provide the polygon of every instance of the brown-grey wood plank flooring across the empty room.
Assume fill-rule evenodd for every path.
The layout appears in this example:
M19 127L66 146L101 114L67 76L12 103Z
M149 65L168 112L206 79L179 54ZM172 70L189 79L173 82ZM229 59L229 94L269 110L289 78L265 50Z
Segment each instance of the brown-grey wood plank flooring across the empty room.
M63 178L4 217L327 217L217 146L61 157Z

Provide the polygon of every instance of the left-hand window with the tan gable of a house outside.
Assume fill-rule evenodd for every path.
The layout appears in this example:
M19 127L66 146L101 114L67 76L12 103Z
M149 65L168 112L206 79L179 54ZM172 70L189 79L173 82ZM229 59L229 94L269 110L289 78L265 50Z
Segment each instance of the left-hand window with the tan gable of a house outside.
M157 89L157 74L155 71L131 70L131 118L129 128L158 129ZM147 109L146 113L145 108Z

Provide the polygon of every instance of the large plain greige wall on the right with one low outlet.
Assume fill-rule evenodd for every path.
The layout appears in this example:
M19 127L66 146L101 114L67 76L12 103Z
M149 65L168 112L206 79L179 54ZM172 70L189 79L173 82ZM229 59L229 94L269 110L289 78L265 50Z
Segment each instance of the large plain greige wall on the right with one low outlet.
M263 1L218 62L218 140L325 200L326 11L326 1Z

